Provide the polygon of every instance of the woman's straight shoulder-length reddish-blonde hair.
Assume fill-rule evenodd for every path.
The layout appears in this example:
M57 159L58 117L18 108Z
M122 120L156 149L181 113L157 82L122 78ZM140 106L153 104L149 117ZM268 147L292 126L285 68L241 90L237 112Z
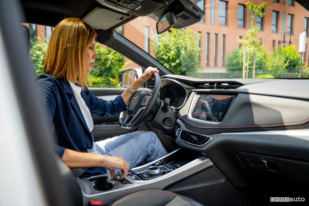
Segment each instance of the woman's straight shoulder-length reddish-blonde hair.
M67 18L57 24L50 36L44 73L54 78L74 80L82 89L89 83L84 63L88 45L96 37L95 30L78 18ZM77 77L76 79L74 79Z

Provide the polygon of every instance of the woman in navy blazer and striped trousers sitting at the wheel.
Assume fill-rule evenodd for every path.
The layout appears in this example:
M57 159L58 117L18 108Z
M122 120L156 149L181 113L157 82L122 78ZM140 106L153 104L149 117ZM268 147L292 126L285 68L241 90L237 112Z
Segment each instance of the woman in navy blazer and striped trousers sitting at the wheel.
M91 114L114 116L127 109L132 91L151 77L149 67L116 99L107 102L93 95L86 84L98 54L95 30L77 18L62 20L53 31L44 73L37 77L55 139L57 154L69 167L88 167L83 177L128 170L167 154L154 132L137 131L94 142ZM108 170L108 171L107 171Z

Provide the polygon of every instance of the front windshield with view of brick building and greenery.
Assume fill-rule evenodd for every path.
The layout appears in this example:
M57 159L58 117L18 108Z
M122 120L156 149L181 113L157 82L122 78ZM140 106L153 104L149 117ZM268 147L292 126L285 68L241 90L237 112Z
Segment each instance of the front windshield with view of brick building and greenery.
M196 78L309 78L309 11L298 2L192 2L205 14L199 23L158 35L159 19L149 15L117 31L174 74Z

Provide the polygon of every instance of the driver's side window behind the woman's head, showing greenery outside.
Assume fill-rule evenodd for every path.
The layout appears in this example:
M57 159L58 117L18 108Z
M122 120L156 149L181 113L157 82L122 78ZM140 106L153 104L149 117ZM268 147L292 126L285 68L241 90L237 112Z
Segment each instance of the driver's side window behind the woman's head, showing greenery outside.
M30 60L33 74L37 76L43 73L49 38L54 28L36 24L24 25L30 31ZM95 66L90 72L91 84L87 85L88 87L120 87L118 73L123 69L135 68L139 75L142 74L142 69L139 65L133 64L132 61L112 48L96 43L95 50L99 58L95 60Z

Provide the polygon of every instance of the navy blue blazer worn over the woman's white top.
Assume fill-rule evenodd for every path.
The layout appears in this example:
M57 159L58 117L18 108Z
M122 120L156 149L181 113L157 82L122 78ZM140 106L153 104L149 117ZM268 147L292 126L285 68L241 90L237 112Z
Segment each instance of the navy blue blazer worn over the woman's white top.
M87 152L87 149L91 149L93 134L89 131L69 81L53 78L49 74L41 74L36 80L57 142L57 154L62 157L65 148L78 152ZM95 97L87 88L82 90L81 96L90 113L97 116L114 116L127 110L120 95L107 102ZM105 173L106 169L103 167L92 167L88 168L83 176Z

